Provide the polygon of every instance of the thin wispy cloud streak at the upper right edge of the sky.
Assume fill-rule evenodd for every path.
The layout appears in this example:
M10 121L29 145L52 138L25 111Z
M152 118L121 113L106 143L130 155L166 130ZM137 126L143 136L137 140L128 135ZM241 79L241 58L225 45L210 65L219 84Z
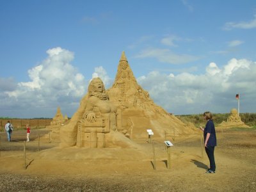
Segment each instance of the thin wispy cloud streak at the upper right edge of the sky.
M224 26L224 30L231 30L234 28L238 29L253 29L256 28L256 14L254 15L254 19L248 22L227 22Z

